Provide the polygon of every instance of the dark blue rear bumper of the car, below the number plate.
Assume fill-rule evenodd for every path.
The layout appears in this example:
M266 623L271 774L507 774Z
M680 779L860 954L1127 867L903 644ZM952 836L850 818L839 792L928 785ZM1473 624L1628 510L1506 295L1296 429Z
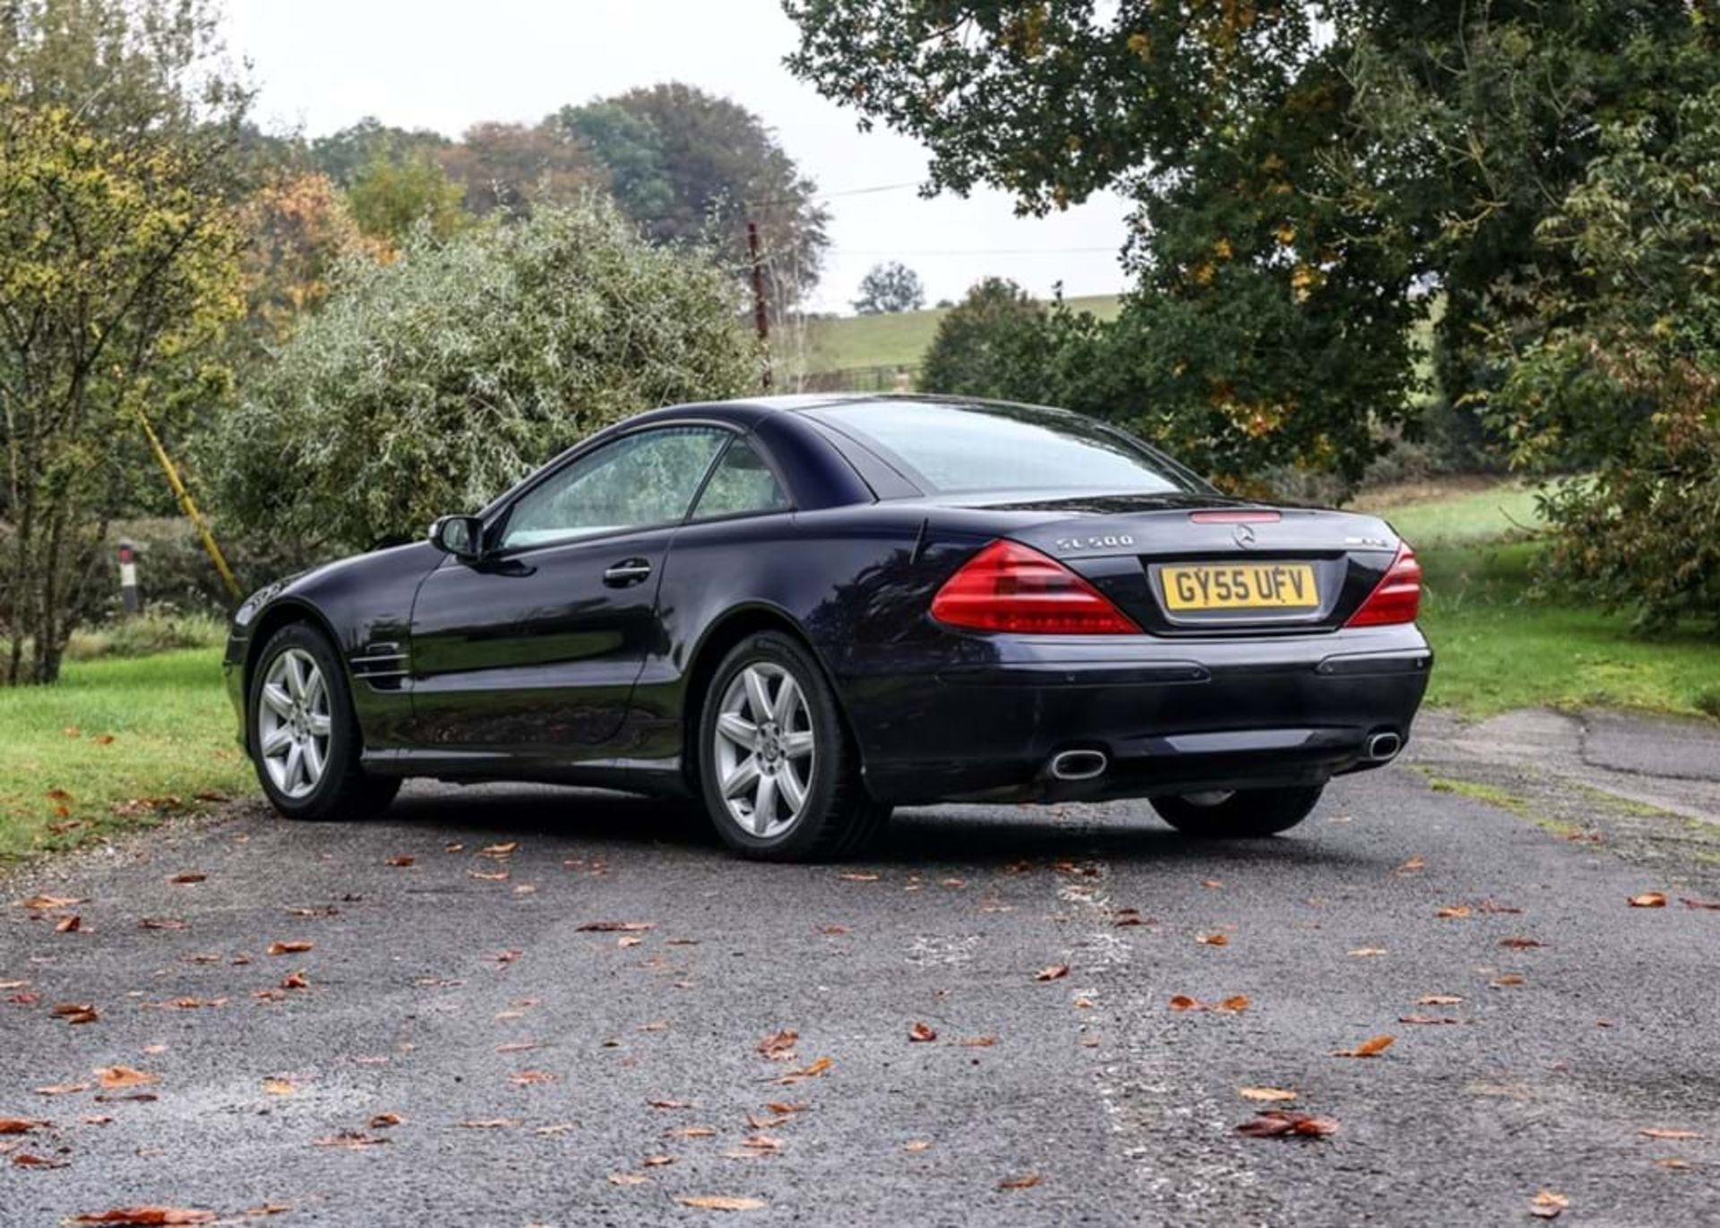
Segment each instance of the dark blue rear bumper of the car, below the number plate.
M1319 784L1378 767L1373 734L1409 738L1433 664L1414 626L1257 640L963 640L932 648L941 660L912 667L893 657L841 678L877 800ZM1106 771L1053 779L1049 760L1065 750L1099 750Z

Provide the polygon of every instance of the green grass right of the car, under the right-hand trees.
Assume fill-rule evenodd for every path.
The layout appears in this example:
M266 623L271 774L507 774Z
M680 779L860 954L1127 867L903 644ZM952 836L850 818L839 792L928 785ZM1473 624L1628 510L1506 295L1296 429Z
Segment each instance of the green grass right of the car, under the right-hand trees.
M1421 559L1421 624L1438 659L1428 702L1469 715L1508 709L1713 712L1720 645L1696 628L1644 640L1625 614L1536 600L1534 492L1457 482L1378 492L1357 507L1391 521Z

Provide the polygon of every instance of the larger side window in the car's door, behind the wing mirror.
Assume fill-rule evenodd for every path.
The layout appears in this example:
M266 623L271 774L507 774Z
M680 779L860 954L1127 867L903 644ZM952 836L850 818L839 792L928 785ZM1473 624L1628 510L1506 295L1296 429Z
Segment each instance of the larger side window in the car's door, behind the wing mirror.
M502 549L678 521L728 439L716 427L666 427L581 456L514 504Z

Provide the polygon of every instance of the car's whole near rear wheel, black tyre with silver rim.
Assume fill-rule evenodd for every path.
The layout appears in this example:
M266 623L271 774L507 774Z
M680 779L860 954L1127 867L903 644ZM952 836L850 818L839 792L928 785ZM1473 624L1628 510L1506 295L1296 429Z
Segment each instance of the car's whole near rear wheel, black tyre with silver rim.
M819 662L764 631L717 666L698 721L698 784L722 841L764 862L858 853L889 820Z

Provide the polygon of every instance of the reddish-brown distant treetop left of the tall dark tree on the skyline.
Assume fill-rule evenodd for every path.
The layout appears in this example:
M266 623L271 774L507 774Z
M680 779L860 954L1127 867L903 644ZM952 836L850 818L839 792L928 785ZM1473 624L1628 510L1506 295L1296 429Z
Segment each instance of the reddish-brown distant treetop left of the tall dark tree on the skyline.
M605 181L585 146L549 124L473 124L440 160L476 217L497 210L521 217L531 205L564 205Z

